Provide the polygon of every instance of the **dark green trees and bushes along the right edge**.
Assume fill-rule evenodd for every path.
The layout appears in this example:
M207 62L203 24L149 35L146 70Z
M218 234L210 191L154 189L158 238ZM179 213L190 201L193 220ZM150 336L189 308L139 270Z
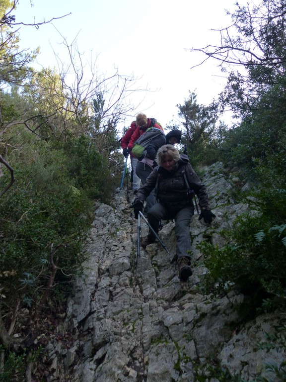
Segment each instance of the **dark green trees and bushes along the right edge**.
M243 49L245 43L250 53L249 42L257 41L261 56L241 56L248 76L231 72L221 94L222 106L231 107L240 122L224 132L220 159L239 167L256 191L244 200L253 212L239 216L231 230L222 233L228 244L202 245L209 269L203 284L216 295L238 287L251 297L248 314L257 314L286 306L285 45L274 33L276 26L285 31L285 20L282 4L272 1L262 1L260 8L254 5L252 13L237 4L232 18L237 29L237 38L231 37L234 49Z

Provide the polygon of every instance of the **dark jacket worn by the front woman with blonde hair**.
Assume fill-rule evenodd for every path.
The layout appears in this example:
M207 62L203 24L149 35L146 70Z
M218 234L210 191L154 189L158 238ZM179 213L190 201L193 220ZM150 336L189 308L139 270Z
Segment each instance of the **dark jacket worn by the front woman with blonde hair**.
M166 171L160 166L155 167L144 185L137 192L134 203L137 201L144 202L146 197L155 188L157 188L156 197L158 201L167 207L180 209L189 203L193 203L188 195L188 186L184 179L184 172L190 189L199 197L200 208L209 209L206 186L201 182L189 164L188 156L184 154L181 155L174 170L171 172Z

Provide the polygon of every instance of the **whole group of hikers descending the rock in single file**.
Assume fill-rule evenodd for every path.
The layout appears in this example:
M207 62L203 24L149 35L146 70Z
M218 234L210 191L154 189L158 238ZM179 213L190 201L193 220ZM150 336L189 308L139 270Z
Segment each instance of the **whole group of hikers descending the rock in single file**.
M149 232L140 244L145 249L154 243L160 221L174 219L179 278L187 281L192 275L190 223L195 210L195 194L201 209L199 219L211 224L215 215L209 207L206 187L190 165L188 156L174 147L181 137L177 129L165 135L154 118L140 113L121 139L121 146L124 157L131 156L135 218L139 219L143 213L149 225Z

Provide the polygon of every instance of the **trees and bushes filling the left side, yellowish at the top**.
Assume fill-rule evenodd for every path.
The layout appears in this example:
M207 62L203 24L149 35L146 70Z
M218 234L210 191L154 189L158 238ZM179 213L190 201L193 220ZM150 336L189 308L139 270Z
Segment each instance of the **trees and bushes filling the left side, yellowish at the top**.
M107 95L93 90L93 83L84 93L78 73L73 89L65 73L31 70L34 55L19 51L13 18L5 16L13 4L0 6L0 380L5 382L23 380L40 354L39 345L35 351L15 345L10 333L29 336L31 324L38 328L43 316L65 309L71 282L83 272L82 245L94 200L110 203L124 167L116 129L121 98L112 105L107 99L107 112Z

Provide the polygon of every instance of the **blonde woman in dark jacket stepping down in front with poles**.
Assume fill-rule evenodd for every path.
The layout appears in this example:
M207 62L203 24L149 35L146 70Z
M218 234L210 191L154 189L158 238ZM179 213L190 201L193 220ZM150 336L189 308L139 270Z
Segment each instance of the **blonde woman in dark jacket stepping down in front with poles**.
M175 219L179 278L187 281L192 275L188 252L191 250L190 222L195 209L192 200L194 194L199 197L199 219L203 218L205 223L210 224L215 215L209 207L206 187L190 165L187 155L180 155L172 145L164 145L157 152L156 162L158 166L136 194L133 203L135 218L138 219L146 197L155 189L157 202L147 213L148 223L158 233L160 220ZM154 233L149 230L148 235L143 237L141 246L145 249L155 240Z

